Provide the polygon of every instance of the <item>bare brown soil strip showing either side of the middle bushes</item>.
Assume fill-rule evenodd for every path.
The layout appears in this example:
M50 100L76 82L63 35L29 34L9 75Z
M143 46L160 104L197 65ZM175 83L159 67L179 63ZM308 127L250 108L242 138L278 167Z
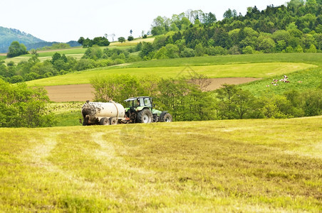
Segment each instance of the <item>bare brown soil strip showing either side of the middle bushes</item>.
M207 89L219 89L222 84L244 84L259 80L254 77L223 77L212 78ZM48 97L52 102L85 102L86 100L94 99L94 89L90 84L73 84L73 85L58 85L46 86Z

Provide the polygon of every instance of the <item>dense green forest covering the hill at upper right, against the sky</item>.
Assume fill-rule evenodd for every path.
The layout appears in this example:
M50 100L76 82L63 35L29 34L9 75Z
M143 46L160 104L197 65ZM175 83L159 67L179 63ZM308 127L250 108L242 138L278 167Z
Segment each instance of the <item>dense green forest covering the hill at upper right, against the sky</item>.
M245 16L228 9L217 21L213 13L187 11L152 23L153 44L142 43L149 59L253 53L316 53L322 50L321 0L291 0L287 6L248 8Z

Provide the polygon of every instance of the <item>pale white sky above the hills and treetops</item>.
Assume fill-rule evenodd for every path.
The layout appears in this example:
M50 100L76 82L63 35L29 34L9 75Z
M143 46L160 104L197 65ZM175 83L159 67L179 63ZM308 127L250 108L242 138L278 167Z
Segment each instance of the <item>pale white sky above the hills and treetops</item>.
M68 42L81 36L91 38L115 33L128 38L130 30L136 38L150 31L157 16L171 18L189 9L212 12L218 20L227 9L246 13L247 7L263 10L267 5L280 6L286 0L12 0L0 1L0 26L16 28L46 41ZM109 36L108 40L112 40Z

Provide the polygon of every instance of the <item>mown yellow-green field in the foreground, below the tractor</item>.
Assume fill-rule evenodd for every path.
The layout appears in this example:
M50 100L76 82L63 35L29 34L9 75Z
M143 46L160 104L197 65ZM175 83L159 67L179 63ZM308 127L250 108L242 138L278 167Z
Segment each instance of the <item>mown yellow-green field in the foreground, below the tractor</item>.
M0 211L321 212L321 119L0 129Z

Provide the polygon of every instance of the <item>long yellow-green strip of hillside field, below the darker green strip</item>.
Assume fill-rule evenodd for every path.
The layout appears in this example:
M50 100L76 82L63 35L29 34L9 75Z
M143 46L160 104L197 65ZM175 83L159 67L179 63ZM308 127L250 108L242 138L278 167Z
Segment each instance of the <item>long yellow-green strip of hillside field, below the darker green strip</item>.
M95 77L108 75L157 75L158 77L184 77L197 72L208 77L276 77L298 70L306 70L316 65L304 63L271 62L237 65L199 65L186 67L107 67L105 69L85 70L46 79L27 82L29 86L52 86L65 84L88 84Z

